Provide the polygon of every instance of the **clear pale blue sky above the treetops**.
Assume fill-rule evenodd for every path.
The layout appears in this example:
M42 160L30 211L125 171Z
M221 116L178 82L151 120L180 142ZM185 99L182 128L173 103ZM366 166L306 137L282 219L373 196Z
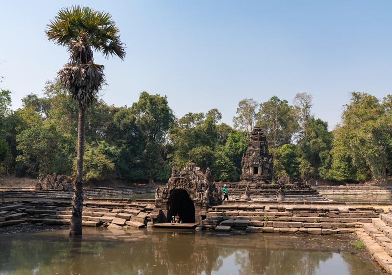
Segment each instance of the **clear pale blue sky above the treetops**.
M95 55L109 84L103 100L115 106L147 91L166 95L179 118L217 108L232 125L240 100L292 104L305 92L333 128L350 92L391 94L392 1L13 0L0 10L0 87L13 109L67 63L44 30L73 4L110 13L120 28L125 60Z

